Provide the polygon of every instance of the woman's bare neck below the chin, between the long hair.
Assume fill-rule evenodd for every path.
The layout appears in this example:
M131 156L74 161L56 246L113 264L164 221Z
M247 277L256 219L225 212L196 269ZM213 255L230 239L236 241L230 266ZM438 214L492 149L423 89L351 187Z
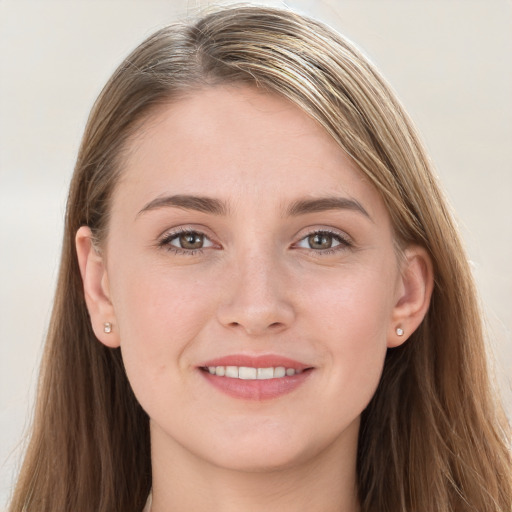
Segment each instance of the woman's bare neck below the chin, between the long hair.
M358 424L351 429L315 457L259 471L215 466L152 429L151 512L357 512Z

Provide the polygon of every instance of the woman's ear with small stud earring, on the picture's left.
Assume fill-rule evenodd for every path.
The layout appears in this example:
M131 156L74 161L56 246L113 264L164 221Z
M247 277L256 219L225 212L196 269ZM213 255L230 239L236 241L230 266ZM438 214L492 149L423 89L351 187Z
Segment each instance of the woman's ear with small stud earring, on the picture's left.
M75 245L94 334L107 347L119 347L119 329L110 300L107 269L103 256L94 246L89 227L82 226L77 231ZM110 324L110 330L106 323Z

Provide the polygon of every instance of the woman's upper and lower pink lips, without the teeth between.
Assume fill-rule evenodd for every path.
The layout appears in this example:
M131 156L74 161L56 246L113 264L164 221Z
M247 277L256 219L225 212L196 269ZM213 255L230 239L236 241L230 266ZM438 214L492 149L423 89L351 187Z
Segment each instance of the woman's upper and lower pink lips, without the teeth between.
M284 366L293 368L300 373L268 380L243 380L212 375L207 371L208 366L248 366L252 368ZM232 398L262 401L276 399L295 391L309 379L313 367L288 357L273 354L257 356L233 354L208 360L198 366L198 370L208 383Z

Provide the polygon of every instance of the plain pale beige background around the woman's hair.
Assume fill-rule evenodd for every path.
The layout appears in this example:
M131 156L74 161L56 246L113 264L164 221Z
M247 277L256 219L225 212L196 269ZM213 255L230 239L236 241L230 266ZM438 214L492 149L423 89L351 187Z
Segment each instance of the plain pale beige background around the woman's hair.
M144 37L218 3L0 0L0 510L32 408L66 189L88 111ZM512 415L511 2L286 5L355 41L416 121L459 219Z

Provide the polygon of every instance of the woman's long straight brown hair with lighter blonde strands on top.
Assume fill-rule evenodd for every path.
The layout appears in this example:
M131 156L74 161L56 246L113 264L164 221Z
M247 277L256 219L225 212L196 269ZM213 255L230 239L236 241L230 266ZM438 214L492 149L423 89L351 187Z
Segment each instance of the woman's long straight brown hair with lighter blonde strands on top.
M324 25L277 9L220 10L142 43L92 110L69 192L62 261L31 441L11 512L129 512L151 488L149 420L118 349L95 338L75 233L99 242L123 151L158 105L191 89L244 82L315 118L382 194L397 244L426 248L430 309L390 349L363 413L363 512L510 512L509 426L489 386L481 313L466 256L429 160L389 87Z

